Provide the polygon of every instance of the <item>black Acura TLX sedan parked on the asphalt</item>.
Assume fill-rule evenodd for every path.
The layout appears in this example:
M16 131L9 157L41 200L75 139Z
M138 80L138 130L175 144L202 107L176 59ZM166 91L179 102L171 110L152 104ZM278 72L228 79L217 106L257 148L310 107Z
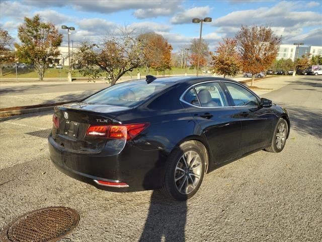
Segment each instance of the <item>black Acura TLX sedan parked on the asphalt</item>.
M54 165L97 188L151 189L186 200L205 173L258 150L280 152L286 109L238 82L172 77L123 82L56 106Z

